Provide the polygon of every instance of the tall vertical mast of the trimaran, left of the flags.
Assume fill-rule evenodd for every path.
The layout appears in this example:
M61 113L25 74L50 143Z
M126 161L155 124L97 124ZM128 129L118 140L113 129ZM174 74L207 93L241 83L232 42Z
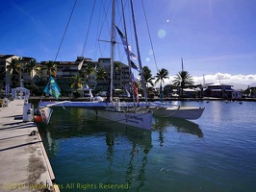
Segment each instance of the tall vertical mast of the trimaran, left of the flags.
M112 28L111 28L111 90L110 102L113 101L113 75L114 75L114 58L115 58L115 0L112 1Z

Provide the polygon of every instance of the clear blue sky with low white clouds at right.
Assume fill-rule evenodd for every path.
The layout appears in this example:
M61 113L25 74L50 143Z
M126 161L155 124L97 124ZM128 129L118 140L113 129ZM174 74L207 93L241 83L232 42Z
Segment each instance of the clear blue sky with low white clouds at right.
M55 60L75 1L0 2L0 54L33 57L38 61ZM95 3L84 57L97 60L110 55L110 45L97 41L98 38L109 40L106 20L101 20L104 24L98 33L101 29L98 18L110 14L109 2L97 0ZM143 3L158 68L166 68L169 76L181 70L183 58L184 68L195 82L202 82L205 74L207 83L218 79L222 83L256 83L255 0L143 0ZM134 4L142 64L155 75L141 0L135 0ZM92 6L93 0L77 0L57 60L76 60L82 55ZM100 34L99 37L96 34ZM135 50L134 41L129 43Z

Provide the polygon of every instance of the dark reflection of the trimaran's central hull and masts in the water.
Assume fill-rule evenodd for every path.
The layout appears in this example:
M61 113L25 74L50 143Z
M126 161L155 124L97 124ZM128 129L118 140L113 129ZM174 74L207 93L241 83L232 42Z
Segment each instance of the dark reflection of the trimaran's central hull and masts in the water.
M91 118L91 117L90 117ZM109 173L113 162L116 160L115 155L115 140L116 136L125 136L130 141L129 158L126 162L125 180L130 187L137 188L137 191L144 185L145 170L147 164L147 156L151 150L152 137L151 132L144 131L138 128L129 127L119 123L109 122L97 117L97 123L101 120L104 126L101 125L106 134L106 144L108 145L107 155L109 160Z

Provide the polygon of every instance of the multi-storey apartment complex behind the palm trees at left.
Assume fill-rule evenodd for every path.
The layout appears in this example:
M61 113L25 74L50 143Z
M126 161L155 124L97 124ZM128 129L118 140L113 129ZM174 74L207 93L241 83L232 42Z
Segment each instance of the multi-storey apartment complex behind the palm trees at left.
M11 73L7 67L13 60L20 60L21 73ZM0 55L0 83L3 85L10 84L11 87L25 86L29 87L32 84L38 85L40 93L42 93L49 78L49 72L46 67L47 61L41 61L41 74L37 76L35 71L25 72L25 64L29 63L33 58L21 58L15 55ZM56 81L61 87L63 95L70 95L74 89L71 88L72 78L76 75L80 75L84 79L84 84L89 85L91 89L108 90L110 80L110 63L111 59L100 58L97 61L93 61L84 57L77 57L74 61L54 61L56 64ZM104 69L106 71L106 78L96 81L96 71ZM114 73L114 87L117 89L125 89L125 85L130 84L129 66L115 61L115 73Z

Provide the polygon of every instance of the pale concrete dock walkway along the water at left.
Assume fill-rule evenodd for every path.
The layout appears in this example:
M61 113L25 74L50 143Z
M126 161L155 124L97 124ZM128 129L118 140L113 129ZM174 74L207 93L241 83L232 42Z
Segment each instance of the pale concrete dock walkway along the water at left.
M38 128L23 122L23 106L14 100L0 108L0 191L58 191Z

